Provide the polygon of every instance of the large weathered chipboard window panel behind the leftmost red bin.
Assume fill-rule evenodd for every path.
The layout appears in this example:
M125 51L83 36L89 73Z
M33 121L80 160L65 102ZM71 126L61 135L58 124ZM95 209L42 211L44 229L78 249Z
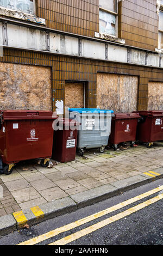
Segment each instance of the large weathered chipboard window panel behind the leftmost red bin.
M0 63L0 109L52 109L51 68Z

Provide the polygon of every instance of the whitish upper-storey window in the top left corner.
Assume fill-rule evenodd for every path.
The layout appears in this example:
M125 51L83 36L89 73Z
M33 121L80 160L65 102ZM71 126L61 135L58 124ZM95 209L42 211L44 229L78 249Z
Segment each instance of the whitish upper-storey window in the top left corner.
M0 0L2 7L22 11L27 14L34 14L35 0Z

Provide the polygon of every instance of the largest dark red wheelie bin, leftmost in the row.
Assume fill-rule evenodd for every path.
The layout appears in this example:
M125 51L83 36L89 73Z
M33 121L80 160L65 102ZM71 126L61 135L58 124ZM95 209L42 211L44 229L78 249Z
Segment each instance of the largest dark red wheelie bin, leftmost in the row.
M47 167L52 156L52 111L0 111L0 156L3 173L12 173L15 163L22 160L41 159Z

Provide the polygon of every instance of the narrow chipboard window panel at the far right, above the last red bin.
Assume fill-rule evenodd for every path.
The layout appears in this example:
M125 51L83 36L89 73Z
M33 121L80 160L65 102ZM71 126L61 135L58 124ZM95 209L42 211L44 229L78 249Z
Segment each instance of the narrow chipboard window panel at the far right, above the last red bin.
M163 83L148 83L148 110L163 109Z

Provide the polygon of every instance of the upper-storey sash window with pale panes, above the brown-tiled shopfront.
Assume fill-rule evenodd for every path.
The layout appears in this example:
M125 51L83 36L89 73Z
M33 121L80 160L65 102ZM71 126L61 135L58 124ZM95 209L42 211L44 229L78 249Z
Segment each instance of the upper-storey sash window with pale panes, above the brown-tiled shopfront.
M99 0L99 32L117 36L117 0Z

